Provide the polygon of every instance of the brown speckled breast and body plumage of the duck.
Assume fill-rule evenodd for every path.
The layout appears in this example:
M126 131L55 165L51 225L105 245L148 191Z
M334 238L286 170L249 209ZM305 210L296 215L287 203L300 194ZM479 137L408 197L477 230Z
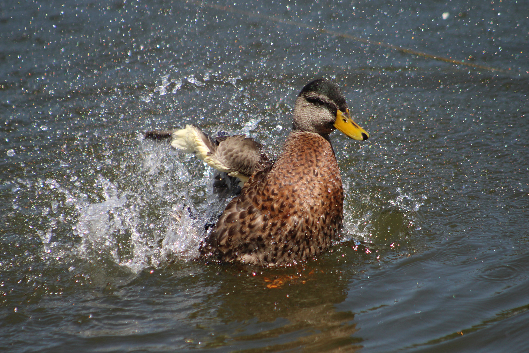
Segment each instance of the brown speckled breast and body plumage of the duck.
M327 251L342 224L340 170L329 140L292 133L276 163L233 198L200 252L254 265L284 265Z

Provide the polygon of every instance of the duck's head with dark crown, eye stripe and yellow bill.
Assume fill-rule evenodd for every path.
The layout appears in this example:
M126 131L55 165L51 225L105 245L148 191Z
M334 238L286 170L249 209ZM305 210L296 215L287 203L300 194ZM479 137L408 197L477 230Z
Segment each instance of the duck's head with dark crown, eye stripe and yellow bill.
M335 129L355 140L369 138L366 130L351 119L338 85L317 79L303 87L296 99L293 130L329 135Z

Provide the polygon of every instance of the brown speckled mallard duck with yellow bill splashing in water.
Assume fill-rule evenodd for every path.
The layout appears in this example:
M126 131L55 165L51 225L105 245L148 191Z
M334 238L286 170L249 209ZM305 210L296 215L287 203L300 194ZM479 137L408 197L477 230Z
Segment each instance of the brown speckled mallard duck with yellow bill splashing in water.
M200 258L258 266L295 264L331 247L342 227L343 189L329 135L369 134L353 122L340 88L326 79L299 93L293 128L275 162L245 135L211 138L195 125L150 131L243 183L200 244Z

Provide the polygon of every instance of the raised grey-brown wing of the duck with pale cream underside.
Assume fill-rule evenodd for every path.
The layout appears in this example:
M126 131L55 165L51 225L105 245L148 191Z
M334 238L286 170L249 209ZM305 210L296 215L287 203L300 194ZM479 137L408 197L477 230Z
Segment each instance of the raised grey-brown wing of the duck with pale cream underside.
M148 131L145 138L171 138L171 146L203 160L207 165L238 177L243 183L256 171L269 165L262 145L245 135L209 137L195 125L185 129Z

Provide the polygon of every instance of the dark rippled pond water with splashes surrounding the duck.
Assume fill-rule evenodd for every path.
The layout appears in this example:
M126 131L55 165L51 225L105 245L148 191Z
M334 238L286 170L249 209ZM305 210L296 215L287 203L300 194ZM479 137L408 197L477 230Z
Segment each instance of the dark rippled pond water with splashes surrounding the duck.
M0 347L524 351L527 4L218 5L504 71L177 0L0 3ZM371 135L332 135L340 241L289 268L190 261L229 198L141 132L192 122L276 155L318 77Z

